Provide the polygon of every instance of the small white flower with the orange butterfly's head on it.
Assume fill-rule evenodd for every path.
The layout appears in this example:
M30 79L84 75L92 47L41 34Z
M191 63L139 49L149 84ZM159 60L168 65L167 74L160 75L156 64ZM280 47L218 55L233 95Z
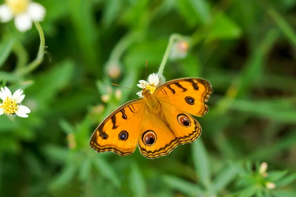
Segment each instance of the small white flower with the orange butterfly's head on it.
M148 76L148 81L140 80L139 83L137 86L142 88L142 91L138 92L137 95L140 98L150 97L157 88L159 78L157 74L152 73Z

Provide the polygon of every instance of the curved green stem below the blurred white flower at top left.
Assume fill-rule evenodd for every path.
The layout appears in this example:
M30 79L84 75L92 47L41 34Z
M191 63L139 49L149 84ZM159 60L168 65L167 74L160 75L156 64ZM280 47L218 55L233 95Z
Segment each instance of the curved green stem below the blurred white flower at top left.
M42 30L40 24L38 22L34 22L34 25L37 28L37 30L39 32L39 36L40 36L40 46L39 46L39 50L38 50L38 53L37 53L37 57L28 66L17 69L16 70L16 75L18 75L18 76L23 76L23 75L29 74L30 72L35 70L43 61L44 47L45 47L45 37L44 37L44 33L43 33L43 30Z

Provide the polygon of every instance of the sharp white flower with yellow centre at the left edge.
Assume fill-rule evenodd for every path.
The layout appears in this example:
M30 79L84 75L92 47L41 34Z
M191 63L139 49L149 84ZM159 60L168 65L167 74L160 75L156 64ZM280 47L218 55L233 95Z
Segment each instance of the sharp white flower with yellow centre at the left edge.
M27 114L31 111L25 105L20 104L20 102L22 102L25 98L25 95L22 95L22 93L23 91L19 89L12 95L7 87L1 88L0 99L3 100L3 102L0 103L0 115L16 114L19 117L27 118Z

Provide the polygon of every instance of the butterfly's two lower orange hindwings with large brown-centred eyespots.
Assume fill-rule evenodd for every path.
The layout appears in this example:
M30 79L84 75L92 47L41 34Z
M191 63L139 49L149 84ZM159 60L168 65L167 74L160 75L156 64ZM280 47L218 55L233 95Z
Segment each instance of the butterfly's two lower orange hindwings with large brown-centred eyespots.
M193 142L200 134L200 124L188 113L166 105L161 105L161 113L156 115L145 109L139 134L139 150L147 158L168 155L179 144Z

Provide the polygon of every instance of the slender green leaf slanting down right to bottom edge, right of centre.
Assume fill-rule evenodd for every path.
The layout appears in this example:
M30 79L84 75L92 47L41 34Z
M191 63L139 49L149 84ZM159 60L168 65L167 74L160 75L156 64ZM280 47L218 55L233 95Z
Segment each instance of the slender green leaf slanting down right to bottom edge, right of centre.
M161 177L162 181L174 190L178 190L185 195L192 197L203 197L202 189L191 182L185 181L175 176L164 175Z

